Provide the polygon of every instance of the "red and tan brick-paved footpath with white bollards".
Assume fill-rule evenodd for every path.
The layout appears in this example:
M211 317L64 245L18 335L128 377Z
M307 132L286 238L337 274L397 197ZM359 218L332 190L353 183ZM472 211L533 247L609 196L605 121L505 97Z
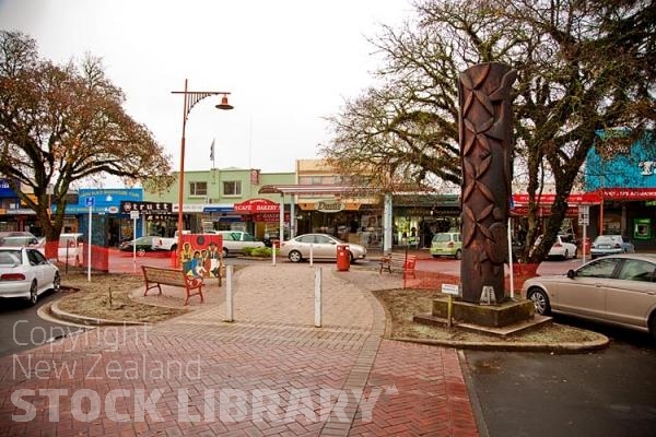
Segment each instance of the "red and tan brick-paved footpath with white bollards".
M320 328L317 265L255 264L233 275L233 322L225 284L211 285L204 304L154 327L2 358L0 435L478 436L457 352L383 339L370 291L401 279L318 265Z

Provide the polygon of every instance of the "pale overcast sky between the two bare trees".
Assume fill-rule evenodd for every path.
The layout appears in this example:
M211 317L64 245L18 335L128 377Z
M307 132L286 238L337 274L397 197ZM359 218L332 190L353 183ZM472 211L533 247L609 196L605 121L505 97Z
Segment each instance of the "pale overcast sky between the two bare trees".
M374 84L380 58L366 37L398 26L410 0L0 0L0 28L19 29L39 56L103 58L126 109L179 168L185 79L190 91L229 91L196 105L185 169L294 172L329 140L323 117Z

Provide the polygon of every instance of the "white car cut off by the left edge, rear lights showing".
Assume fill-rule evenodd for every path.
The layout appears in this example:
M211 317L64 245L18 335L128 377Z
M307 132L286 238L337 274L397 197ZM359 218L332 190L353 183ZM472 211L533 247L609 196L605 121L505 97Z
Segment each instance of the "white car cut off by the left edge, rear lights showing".
M0 297L25 298L35 305L38 296L58 292L59 269L35 248L0 247Z

